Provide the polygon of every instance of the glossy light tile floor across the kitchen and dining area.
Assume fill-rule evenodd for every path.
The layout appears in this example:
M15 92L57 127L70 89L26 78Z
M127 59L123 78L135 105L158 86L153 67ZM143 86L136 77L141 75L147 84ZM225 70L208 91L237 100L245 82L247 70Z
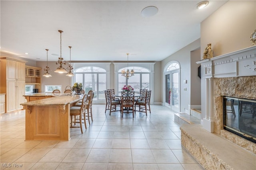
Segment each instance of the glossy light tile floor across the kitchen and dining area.
M1 169L6 170L203 170L182 147L180 125L164 106L151 114L93 105L87 130L70 130L70 141L24 141L25 111L0 116ZM6 163L6 164L5 164ZM22 167L18 167L22 165ZM10 166L4 168L4 166ZM16 166L16 167L15 167Z

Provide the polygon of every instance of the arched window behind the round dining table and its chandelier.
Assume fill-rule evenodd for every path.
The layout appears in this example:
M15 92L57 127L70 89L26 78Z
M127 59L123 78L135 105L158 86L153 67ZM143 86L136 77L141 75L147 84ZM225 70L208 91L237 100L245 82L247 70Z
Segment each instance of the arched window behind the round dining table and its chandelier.
M150 84L150 72L146 68L142 67L128 67L129 70L134 70L134 76L128 79L122 76L121 71L126 68L118 70L118 92L121 92L121 88L124 85L130 85L134 88L135 93L140 93L140 89L149 89Z

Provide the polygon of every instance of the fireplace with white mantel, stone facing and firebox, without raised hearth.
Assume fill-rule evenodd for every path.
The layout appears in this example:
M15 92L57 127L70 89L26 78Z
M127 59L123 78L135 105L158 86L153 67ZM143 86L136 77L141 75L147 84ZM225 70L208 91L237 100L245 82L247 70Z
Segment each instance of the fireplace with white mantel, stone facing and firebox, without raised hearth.
M233 133L239 128L228 128L226 125L224 126L223 114L224 96L236 98L237 100L247 99L255 101L256 99L256 46L198 61L197 63L201 64L201 88L204 91L201 93L205 94L205 96L201 97L201 125L207 131L221 135L240 147L256 153L256 145L253 140L246 140L241 137L241 134L243 137L248 135L248 139L254 138L255 140L255 133L254 135L243 135L245 133L239 131L239 133ZM239 103L237 100L234 100L234 104ZM229 105L230 102L231 101L228 103ZM237 106L239 106L239 104L235 105L234 109L236 109L235 107ZM254 107L254 105L252 105L252 107ZM232 110L231 107L228 107L228 110ZM237 112L236 119L238 121L239 108L238 111L235 110L234 112ZM251 117L252 113L250 113ZM227 115L231 117L234 116L230 111ZM231 120L229 117L226 118ZM251 120L247 119L246 121ZM254 118L254 121L256 121L256 118ZM256 124L254 124L254 128L255 125Z

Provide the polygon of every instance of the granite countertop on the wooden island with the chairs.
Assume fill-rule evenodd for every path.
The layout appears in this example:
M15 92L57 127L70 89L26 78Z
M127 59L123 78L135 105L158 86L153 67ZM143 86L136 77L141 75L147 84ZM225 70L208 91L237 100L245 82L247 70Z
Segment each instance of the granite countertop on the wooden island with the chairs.
M35 100L31 102L22 103L22 106L55 106L66 105L69 103L78 102L83 98L83 95L70 95L70 96L58 96L56 98L46 98L42 100Z

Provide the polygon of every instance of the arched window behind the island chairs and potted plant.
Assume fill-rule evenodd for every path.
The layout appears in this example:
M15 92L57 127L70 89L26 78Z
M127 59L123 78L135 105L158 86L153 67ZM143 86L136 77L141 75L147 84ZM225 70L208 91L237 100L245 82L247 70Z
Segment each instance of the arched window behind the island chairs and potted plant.
M94 91L94 100L105 100L106 70L96 66L84 66L74 71L74 82L82 83L87 94Z

